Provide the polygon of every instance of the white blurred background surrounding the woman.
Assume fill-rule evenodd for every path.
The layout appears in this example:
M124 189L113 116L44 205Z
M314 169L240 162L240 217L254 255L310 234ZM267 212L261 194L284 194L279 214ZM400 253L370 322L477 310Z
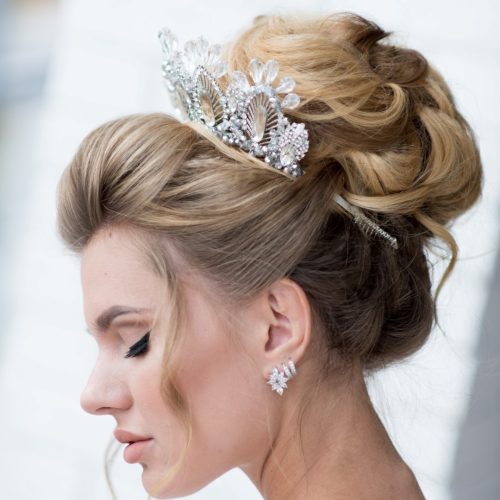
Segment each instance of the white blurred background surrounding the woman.
M453 232L460 261L439 302L443 331L370 392L431 500L500 498L500 4L495 0L0 0L0 498L111 498L114 428L79 406L96 347L78 261L55 231L55 187L83 136L135 112L171 111L157 30L229 40L260 13L350 10L395 32L445 76L474 128L481 202ZM146 498L121 454L122 500ZM239 470L190 496L261 498Z

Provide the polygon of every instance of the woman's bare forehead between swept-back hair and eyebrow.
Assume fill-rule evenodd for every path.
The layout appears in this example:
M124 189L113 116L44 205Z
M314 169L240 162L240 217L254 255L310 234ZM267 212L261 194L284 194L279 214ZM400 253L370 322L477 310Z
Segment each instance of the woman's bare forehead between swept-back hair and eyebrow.
M83 250L80 274L89 322L115 304L156 308L162 282L147 266L137 237L120 227L101 229Z

